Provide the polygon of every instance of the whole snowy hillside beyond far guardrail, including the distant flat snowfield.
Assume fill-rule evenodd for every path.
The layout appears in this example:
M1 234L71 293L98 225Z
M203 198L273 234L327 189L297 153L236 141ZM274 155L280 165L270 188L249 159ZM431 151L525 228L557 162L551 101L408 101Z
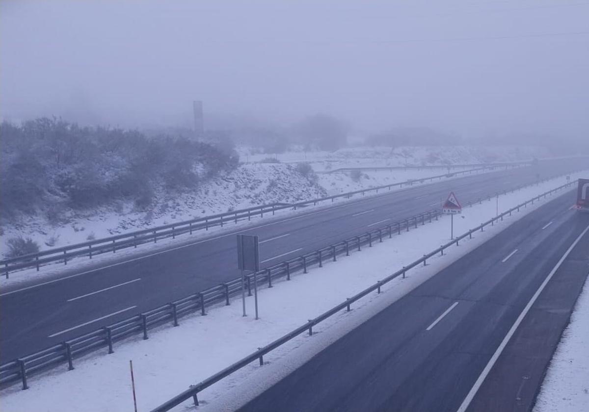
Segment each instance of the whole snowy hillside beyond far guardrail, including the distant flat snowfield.
M362 171L357 173L322 173L339 167L386 165L466 164L529 160L546 155L540 148L499 147L420 147L420 148L346 148L335 152L286 152L280 162L264 160L267 154L244 155L236 169L221 172L199 182L195 188L154 191L148 207L138 208L133 201L117 200L110 204L65 210L59 221L47 215L22 214L4 224L0 238L6 252L6 241L17 236L30 237L41 250L107 237L127 231L205 215L227 212L272 202L296 202L362 188L375 187L444 173L445 170ZM301 167L307 157L313 170ZM249 158L249 163L246 160ZM267 161L267 160L266 160ZM318 171L319 173L316 173Z

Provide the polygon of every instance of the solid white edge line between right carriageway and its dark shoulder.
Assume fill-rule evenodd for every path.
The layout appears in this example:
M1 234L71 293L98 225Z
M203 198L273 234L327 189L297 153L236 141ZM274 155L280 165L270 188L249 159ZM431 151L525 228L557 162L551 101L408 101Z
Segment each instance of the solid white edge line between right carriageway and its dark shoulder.
M507 333L507 335L505 335L505 338L503 339L503 341L501 342L501 344L499 344L499 347L497 348L497 350L495 351L495 353L492 355L491 359L489 360L489 363L487 363L487 366L485 366L485 368L481 372L481 375L478 377L477 381L472 386L471 390L466 395L466 397L464 398L464 401L462 401L461 406L458 408L458 410L456 412L465 412L466 411L466 409L468 408L468 406L471 404L472 399L477 394L477 392L478 392L479 388L481 387L482 383L485 381L485 378L487 377L487 375L491 371L491 368L495 365L495 362L497 362L497 359L499 358L499 356L501 355L501 353L503 352L503 350L505 349L505 347L509 343L509 340L511 339L511 337L514 335L515 331L519 327L519 324L522 322L522 320L524 320L525 315L528 314L528 311L530 311L530 308L532 307L532 305L534 304L534 302L538 299L538 296L540 296L540 294L542 293L542 291L544 290L544 288L546 287L546 285L548 284L548 282L550 282L550 280L552 279L552 276L554 276L554 274L556 273L556 271L558 270L558 268L560 268L560 265L562 265L562 262L564 262L564 260L571 253L571 251L573 251L574 247L581 240L581 238L583 238L583 236L585 235L585 233L587 233L587 231L589 231L589 226L587 226L585 228L585 230L583 232L581 232L581 234L573 242L573 244L571 245L571 247L568 248L566 252L564 252L564 255L562 255L562 257L560 258L560 260L558 261L558 263L556 264L556 266L554 268L552 268L552 270L550 271L550 273L548 274L548 276L544 279L544 282L542 282L542 284L540 285L540 287L538 288L538 290L536 291L536 293L534 293L534 295L532 296L532 298L530 299L530 301L528 302L528 304L525 305L524 310L521 311L521 313L519 314L518 318L515 320L515 323L512 325L511 329L509 329L509 332Z

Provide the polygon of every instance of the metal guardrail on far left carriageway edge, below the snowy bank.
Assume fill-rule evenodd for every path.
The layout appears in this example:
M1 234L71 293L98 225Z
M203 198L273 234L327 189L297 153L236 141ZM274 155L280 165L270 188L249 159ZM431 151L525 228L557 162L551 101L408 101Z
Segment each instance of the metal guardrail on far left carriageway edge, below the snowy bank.
M422 179L413 179L407 180L405 182L399 182L394 184L382 185L377 187L372 187L368 189L356 190L352 192L346 192L342 194L337 194L333 196L317 198L313 200L307 200L302 202L297 202L293 204L285 204L285 203L272 203L267 205L259 205L254 206L251 208L234 210L230 212L225 212L216 215L210 215L207 217L197 218L193 220L181 221L170 223L158 227L147 228L144 230L138 230L134 232L129 232L125 234L115 235L107 238L101 238L97 240L92 240L88 242L82 242L74 245L67 245L64 247L59 248L52 248L49 250L21 255L14 258L0 260L0 266L4 266L4 275L6 278L9 277L9 273L14 272L16 270L22 270L27 268L37 268L41 267L44 264L54 263L54 262L63 262L65 265L68 264L68 261L72 260L75 257L88 257L92 258L95 255L103 254L103 253L115 253L117 250L121 250L124 248L137 248L138 245L157 242L158 239L161 240L163 238L176 238L177 235L180 234L192 234L193 231L196 230L209 230L210 227L214 226L221 226L223 227L224 224L229 222L235 222L241 220L251 220L253 216L260 215L260 217L264 217L264 213L269 214L272 212L274 215L276 211L284 210L287 208L294 208L296 210L297 207L306 207L310 204L317 205L320 202L329 201L332 202L336 198L351 198L353 195L362 194L365 195L366 192L375 191L378 193L379 190L387 189L391 190L392 187L399 186L403 187L403 185L413 185L416 183L423 183L426 181L434 181L436 179L441 180L444 177L453 177L454 175L459 174L472 174L472 172L487 170L487 169L495 169L495 166L489 166L479 169L472 169L472 170L462 170L458 172L452 172L449 174L442 174L436 175L432 177L426 177ZM507 168L507 167L506 167Z

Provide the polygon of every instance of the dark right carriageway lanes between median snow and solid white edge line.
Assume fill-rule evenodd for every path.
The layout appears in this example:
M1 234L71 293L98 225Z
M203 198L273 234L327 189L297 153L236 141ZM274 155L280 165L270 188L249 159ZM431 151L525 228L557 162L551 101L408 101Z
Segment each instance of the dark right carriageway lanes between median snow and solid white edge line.
M456 411L589 225L589 215L569 210L573 200L564 195L515 222L239 411Z

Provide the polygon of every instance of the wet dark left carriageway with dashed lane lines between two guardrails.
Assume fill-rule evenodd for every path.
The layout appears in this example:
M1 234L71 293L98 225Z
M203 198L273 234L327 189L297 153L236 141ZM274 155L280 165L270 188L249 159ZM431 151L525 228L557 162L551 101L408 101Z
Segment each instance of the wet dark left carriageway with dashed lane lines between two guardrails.
M235 233L260 237L262 267L332 244L372 225L439 208L450 190L463 203L585 165L585 159L539 165L385 192L259 221L254 227L199 237L190 244L138 255L104 268L6 287L0 294L0 363L58 344L158 305L236 278ZM562 180L564 183L564 178Z

